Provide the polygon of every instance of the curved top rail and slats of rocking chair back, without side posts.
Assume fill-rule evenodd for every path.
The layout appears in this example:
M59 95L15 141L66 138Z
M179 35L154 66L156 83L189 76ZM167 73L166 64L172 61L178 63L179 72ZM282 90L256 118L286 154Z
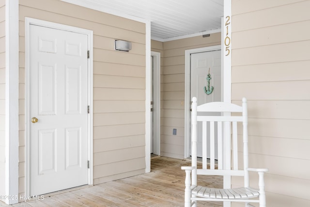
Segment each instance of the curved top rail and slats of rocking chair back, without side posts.
M221 104L218 106L218 104ZM205 111L216 112L217 110L225 112L242 112L242 107L237 105L232 105L222 103L222 102L212 102L207 105L201 105L197 107L197 122L202 122L202 169L217 169L231 170L230 164L223 166L224 164L224 144L229 142L233 148L233 170L238 170L238 122L242 122L244 117L242 114L240 116L206 116L205 114L200 114L200 112ZM218 111L217 111L218 112ZM224 127L223 127L224 126ZM232 127L232 140L230 135L224 134L224 128L230 126ZM195 132L197 134L197 132ZM209 138L209 142L207 141ZM232 143L231 143L232 142ZM217 143L217 144L216 144ZM217 148L217 154L215 149ZM208 152L210 153L209 157ZM197 156L197 151L192 150L192 157ZM229 152L230 153L230 152ZM231 158L231 155L226 155L226 157ZM217 159L216 159L217 158ZM195 161L195 160L193 160ZM209 168L207 163L209 164ZM229 167L227 167L229 166Z

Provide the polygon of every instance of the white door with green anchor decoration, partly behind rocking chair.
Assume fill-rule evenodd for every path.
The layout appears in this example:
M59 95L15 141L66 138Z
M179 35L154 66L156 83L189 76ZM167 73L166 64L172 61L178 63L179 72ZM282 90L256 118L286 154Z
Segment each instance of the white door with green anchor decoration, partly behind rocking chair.
M209 77L208 74L210 74ZM221 50L192 53L190 77L190 99L197 97L198 106L208 102L221 101ZM198 123L197 126L198 157L202 157L201 124ZM207 139L207 144L210 144L210 139ZM215 145L215 157L217 159L217 141ZM210 151L207 152L207 157L210 157Z

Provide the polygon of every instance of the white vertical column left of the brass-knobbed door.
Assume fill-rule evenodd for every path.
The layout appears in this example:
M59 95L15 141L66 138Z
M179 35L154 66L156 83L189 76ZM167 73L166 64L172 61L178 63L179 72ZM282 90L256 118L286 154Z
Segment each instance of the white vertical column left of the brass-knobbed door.
M18 0L5 0L5 199L18 203ZM11 198L11 199L10 199Z

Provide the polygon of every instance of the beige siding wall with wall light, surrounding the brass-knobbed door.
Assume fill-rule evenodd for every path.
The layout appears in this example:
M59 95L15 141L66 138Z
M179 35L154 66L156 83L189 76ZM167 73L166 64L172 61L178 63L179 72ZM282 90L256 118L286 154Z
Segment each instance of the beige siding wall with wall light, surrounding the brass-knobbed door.
M60 0L20 0L20 171L24 192L25 17L93 30L93 183L145 172L145 24ZM115 51L114 40L132 42Z

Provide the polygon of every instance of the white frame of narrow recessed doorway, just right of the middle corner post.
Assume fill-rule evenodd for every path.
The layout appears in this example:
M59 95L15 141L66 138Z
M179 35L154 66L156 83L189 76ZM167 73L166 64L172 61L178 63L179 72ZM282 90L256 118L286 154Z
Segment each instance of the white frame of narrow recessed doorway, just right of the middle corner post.
M153 56L153 153L160 155L160 52L151 51ZM151 126L152 127L152 126Z

